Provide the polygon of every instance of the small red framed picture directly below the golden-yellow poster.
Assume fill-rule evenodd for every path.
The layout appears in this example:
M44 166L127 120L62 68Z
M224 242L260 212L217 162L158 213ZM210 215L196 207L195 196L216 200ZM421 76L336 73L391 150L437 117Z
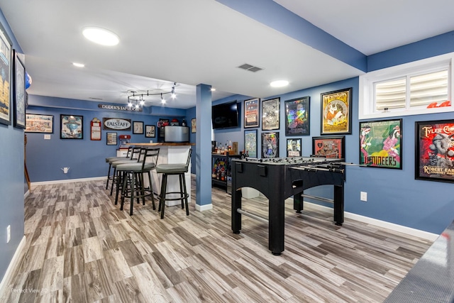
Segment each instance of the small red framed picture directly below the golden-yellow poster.
M345 136L313 137L312 155L324 158L345 158Z

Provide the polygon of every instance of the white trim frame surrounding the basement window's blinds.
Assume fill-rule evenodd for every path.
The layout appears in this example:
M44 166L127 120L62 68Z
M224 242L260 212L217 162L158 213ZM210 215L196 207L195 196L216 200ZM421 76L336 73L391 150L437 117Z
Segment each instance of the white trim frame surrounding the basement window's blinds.
M358 104L358 119L376 119L396 116L410 116L421 114L437 114L454 111L453 87L454 87L454 70L453 70L454 53L430 57L428 59L409 62L403 65L387 67L382 70L367 72L365 75L360 75L359 81L359 104ZM448 100L451 101L450 106L436 107L432 109L397 109L388 112L374 112L374 82L384 81L397 77L404 77L419 71L437 70L441 66L448 65L450 85L448 85Z

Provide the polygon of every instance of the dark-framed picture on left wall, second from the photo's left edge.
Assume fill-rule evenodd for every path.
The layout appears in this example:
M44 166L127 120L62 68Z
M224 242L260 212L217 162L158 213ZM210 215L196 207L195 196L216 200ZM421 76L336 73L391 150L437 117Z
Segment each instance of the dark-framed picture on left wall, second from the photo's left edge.
M26 128L26 67L19 59L16 50L13 54L13 126Z

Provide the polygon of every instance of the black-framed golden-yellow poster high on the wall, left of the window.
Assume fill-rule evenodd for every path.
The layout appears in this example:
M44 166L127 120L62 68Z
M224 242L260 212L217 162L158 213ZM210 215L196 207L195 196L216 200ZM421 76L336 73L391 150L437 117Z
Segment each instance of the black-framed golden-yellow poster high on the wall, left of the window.
M321 134L352 133L352 88L321 94Z

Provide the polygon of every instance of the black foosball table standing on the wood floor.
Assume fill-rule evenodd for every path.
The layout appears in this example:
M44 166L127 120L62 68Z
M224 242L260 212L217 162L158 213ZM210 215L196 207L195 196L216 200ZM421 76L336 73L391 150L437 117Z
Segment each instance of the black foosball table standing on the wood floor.
M273 255L284 251L284 201L294 197L294 209L301 213L303 198L333 202L334 222L343 224L345 162L333 158L267 158L232 160L232 231L240 233L241 216L268 223L268 248ZM304 189L331 184L333 199L304 194ZM241 209L241 188L257 189L268 199L268 218Z

